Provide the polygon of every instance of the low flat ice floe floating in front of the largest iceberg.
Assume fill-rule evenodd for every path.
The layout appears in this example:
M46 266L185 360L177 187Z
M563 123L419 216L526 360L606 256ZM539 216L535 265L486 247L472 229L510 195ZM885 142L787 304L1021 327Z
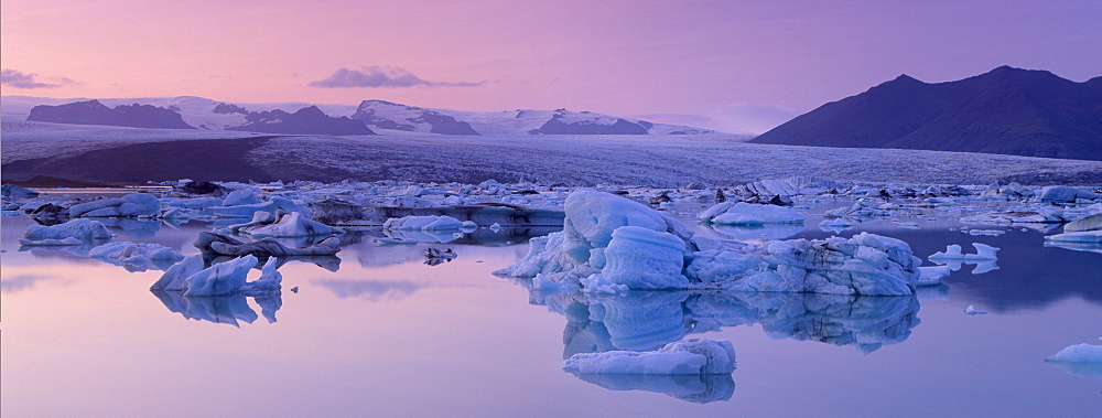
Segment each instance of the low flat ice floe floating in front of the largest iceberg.
M574 354L563 362L563 368L582 374L731 374L735 371L735 349L728 340L689 339L653 352Z

